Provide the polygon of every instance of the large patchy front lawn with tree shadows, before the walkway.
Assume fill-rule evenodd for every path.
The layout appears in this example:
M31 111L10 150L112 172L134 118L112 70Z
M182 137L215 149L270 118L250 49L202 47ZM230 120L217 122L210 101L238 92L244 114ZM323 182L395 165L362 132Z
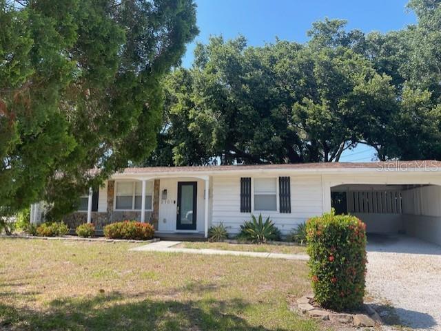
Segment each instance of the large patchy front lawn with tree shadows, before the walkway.
M303 261L0 239L0 330L319 330L287 309Z

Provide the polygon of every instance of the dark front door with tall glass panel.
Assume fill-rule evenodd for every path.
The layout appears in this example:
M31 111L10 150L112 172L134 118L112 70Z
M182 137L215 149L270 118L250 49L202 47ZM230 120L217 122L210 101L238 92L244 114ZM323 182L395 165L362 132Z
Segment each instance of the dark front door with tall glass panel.
M178 182L176 230L196 230L197 182Z

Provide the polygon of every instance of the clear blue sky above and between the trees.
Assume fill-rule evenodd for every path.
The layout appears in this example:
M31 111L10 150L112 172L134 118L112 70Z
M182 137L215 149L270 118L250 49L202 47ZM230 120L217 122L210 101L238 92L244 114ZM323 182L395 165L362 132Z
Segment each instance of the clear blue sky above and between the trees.
M210 35L231 39L243 34L249 45L273 42L275 37L303 43L314 21L346 19L348 29L388 32L416 23L407 0L196 0L198 27L194 43L188 45L183 65L193 61L196 42L206 43ZM345 151L340 161L370 161L373 149L359 146Z

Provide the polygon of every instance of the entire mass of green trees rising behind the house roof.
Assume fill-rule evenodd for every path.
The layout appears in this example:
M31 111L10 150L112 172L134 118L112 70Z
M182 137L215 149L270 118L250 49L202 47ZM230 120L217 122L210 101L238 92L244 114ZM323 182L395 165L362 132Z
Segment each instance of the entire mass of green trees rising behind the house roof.
M359 143L380 160L441 158L440 2L412 0L418 24L387 34L326 19L304 44L198 44L163 80L145 164L330 162Z

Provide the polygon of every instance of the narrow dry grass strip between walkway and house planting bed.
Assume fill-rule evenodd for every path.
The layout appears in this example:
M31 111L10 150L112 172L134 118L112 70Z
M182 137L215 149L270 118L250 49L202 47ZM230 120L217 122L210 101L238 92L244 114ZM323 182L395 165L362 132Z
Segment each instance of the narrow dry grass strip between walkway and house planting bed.
M240 250L248 252L306 254L305 246L273 245L273 244L229 244L226 242L181 242L174 247L196 249Z

